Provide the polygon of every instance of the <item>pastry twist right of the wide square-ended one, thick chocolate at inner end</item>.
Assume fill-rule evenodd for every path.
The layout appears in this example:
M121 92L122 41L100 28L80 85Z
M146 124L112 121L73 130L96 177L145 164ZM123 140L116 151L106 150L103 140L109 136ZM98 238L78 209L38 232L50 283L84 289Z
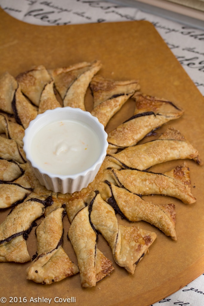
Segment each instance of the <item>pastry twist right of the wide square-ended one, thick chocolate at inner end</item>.
M144 201L138 195L110 182L106 182L106 187L99 190L102 198L129 221L146 221L156 226L166 236L170 236L172 240L177 240L174 204L156 205Z

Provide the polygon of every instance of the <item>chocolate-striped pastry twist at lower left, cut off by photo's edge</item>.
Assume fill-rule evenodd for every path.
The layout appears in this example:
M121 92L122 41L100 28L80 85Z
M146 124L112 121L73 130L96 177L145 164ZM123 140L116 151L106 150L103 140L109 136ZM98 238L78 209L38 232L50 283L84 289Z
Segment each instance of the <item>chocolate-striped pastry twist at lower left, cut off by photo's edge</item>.
M0 261L24 263L30 260L25 239L44 213L47 199L26 199L11 210L0 224Z

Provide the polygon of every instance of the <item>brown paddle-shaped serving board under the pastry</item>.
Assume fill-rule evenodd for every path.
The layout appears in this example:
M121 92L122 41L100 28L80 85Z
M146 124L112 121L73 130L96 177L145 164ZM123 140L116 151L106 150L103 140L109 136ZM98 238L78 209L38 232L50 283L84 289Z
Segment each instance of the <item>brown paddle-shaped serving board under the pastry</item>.
M33 65L45 65L50 69L80 61L101 60L101 75L115 80L139 79L141 91L169 99L184 108L182 118L172 121L169 125L179 129L199 150L204 160L204 99L149 22L42 27L15 20L0 10L0 58L0 73L8 71L13 76ZM91 109L90 101L91 95L87 92L88 110ZM133 101L128 101L111 119L107 131L130 117L133 106ZM167 125L159 129L158 135L166 127ZM154 170L167 171L182 162L167 162L154 167ZM96 287L82 289L79 274L51 285L36 284L25 278L25 269L30 263L0 263L0 295L7 298L5 305L10 305L9 301L14 297L18 302L20 298L23 301L25 297L22 303L24 305L46 305L48 301L43 301L45 298L52 299L50 305L67 304L67 301L61 301L59 298L73 297L70 303L77 306L149 306L202 274L204 168L193 161L187 163L191 171L192 193L197 201L187 205L168 196L151 197L150 200L155 203L176 205L178 240L171 241L156 228L145 222L138 222L139 226L155 231L157 239L150 247L150 252L137 265L134 275L129 275L114 263L109 246L99 236L99 248L105 256L113 260L115 270ZM0 222L8 212L0 212ZM119 217L118 220L121 224L128 223ZM69 228L66 216L64 224L63 247L76 263L72 246L66 238ZM27 244L32 257L36 252L34 230Z

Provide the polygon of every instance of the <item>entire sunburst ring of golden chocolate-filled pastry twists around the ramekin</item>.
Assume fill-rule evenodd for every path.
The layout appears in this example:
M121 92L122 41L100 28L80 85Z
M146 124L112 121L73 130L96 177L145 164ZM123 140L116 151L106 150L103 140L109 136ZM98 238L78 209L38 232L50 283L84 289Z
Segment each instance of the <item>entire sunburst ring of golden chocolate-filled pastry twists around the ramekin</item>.
M0 262L30 261L26 277L36 283L51 284L78 274L81 286L91 288L117 266L134 274L158 230L177 240L177 204L148 202L150 197L145 195L167 195L186 204L196 201L186 161L170 171L150 170L179 159L202 164L198 151L178 130L168 127L157 136L161 126L163 129L167 122L180 118L184 110L171 101L140 92L137 78L113 80L101 76L101 67L98 60L57 69L38 65L16 78L9 73L0 76L2 217L12 207L0 224ZM128 100L131 117L111 131L113 116L119 110L122 114ZM48 109L65 106L87 108L110 131L107 154L94 180L72 194L55 193L41 185L23 151L24 132L30 121ZM154 140L145 138L150 135ZM121 224L119 215L124 219ZM63 241L63 223L68 221L69 242ZM155 226L155 232L140 228L144 222ZM37 252L31 259L26 240L34 226ZM110 246L113 262L100 250L99 233ZM31 233L31 240L35 238ZM73 247L77 264L65 252L65 243Z

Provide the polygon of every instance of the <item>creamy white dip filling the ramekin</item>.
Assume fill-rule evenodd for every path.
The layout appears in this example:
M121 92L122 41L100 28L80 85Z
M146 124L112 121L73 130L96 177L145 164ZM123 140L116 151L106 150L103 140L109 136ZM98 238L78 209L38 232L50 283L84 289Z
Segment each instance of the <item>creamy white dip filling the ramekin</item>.
M76 174L88 169L100 155L100 142L88 125L74 120L54 121L33 137L34 161L58 175Z

